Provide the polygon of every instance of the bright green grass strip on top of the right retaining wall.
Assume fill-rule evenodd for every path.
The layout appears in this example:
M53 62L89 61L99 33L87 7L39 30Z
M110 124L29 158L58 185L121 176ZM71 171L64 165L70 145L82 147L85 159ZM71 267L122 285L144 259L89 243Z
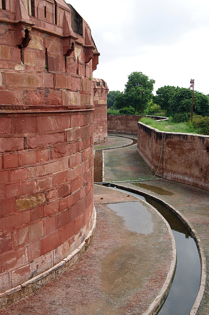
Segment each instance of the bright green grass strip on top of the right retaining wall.
M143 124L151 126L161 131L169 131L169 132L181 132L181 133L195 133L197 134L197 130L194 129L194 126L191 123L174 123L172 118L168 121L157 122L151 118L141 118L140 121Z

